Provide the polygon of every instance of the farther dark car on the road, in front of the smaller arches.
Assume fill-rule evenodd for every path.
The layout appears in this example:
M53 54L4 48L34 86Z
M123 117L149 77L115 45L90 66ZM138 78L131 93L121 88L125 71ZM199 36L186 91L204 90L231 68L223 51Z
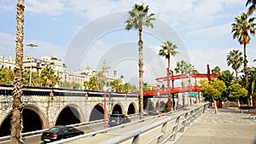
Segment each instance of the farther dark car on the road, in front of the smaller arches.
M131 119L125 116L125 114L111 114L108 118L109 126L116 126L119 124L130 123Z

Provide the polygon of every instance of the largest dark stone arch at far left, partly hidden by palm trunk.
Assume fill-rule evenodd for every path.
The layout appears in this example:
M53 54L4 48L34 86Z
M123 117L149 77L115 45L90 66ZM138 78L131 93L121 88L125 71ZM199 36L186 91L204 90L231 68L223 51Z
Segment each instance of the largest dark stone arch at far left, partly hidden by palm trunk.
M42 130L49 128L48 119L45 117L38 107L27 104L25 105L23 112L23 130L22 132ZM4 135L10 135L10 118L11 111L3 118L2 124L0 124L0 137ZM31 123L33 122L33 123Z

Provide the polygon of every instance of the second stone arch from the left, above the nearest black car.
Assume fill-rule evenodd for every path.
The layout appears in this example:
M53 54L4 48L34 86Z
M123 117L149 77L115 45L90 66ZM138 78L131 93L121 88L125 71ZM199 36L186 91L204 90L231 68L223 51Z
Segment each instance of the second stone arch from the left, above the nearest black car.
M68 104L63 107L57 115L55 125L79 124L84 122L84 116L80 108L75 104Z

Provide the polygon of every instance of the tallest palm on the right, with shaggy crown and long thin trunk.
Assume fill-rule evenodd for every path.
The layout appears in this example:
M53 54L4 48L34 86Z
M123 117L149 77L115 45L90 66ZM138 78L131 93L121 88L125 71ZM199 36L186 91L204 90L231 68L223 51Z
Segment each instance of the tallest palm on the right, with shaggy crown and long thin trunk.
M233 39L238 38L238 42L243 44L243 63L244 63L244 73L246 78L246 88L248 86L248 71L247 71L247 44L250 43L251 37L250 34L255 35L255 26L253 23L255 17L249 18L247 14L241 13L241 15L236 15L235 22L232 23L232 33ZM248 97L248 104L251 106L252 101L249 101L251 98ZM251 99L252 100L252 99Z

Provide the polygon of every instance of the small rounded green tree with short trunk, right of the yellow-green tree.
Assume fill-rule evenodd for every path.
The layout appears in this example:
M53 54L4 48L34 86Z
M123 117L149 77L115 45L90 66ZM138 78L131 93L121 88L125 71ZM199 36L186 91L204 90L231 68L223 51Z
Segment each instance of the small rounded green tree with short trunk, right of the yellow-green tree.
M229 98L231 101L237 101L238 107L240 107L240 101L239 98L246 97L248 95L248 91L245 88L242 88L240 84L235 83L230 85L228 88L229 91Z

